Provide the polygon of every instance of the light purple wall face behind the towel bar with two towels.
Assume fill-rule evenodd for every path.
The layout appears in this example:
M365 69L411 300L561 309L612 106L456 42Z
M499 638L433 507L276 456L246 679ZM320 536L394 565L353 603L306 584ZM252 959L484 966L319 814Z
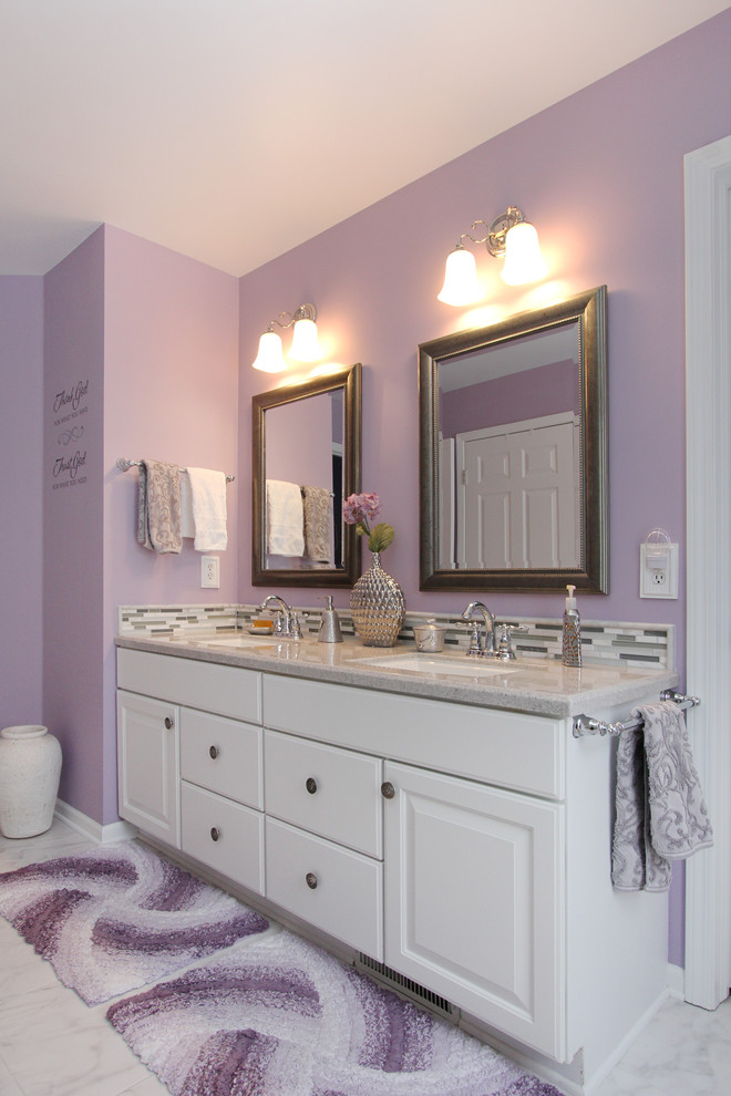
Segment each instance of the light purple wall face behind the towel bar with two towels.
M104 821L116 818L114 635L120 604L235 602L237 514L220 589L200 590L200 552L158 556L136 540L137 473L117 457L152 457L236 473L238 281L115 228L104 229ZM248 477L247 477L248 487Z

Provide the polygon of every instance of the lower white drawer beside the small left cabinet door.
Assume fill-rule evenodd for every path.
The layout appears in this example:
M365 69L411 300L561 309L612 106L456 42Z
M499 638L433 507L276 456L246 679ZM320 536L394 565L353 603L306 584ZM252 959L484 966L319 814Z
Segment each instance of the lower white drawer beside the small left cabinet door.
M182 848L257 895L264 895L264 815L181 785Z

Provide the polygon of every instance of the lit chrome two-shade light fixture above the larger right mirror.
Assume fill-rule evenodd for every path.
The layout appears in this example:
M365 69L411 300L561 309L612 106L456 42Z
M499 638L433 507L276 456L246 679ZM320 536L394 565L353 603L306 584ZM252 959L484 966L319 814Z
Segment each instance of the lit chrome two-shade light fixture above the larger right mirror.
M494 258L505 256L501 277L508 286L538 281L548 272L540 254L538 234L517 206L508 206L490 226L486 220L473 221L472 231L478 225L487 228L487 235L475 239L470 232L463 232L454 251L447 256L444 285L439 293L439 300L445 304L474 304L483 296L474 255L465 249L463 240L484 244Z

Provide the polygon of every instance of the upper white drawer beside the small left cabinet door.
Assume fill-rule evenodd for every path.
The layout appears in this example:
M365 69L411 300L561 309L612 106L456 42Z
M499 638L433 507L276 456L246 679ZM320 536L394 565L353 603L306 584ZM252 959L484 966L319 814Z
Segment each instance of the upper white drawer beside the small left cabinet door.
M181 776L261 810L261 727L182 709Z

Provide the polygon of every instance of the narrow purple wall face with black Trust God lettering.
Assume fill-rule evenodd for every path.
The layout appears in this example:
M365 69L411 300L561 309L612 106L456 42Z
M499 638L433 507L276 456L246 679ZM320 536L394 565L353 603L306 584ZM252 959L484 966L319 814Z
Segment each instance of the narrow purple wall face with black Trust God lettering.
M43 723L59 795L102 817L104 234L44 279Z

